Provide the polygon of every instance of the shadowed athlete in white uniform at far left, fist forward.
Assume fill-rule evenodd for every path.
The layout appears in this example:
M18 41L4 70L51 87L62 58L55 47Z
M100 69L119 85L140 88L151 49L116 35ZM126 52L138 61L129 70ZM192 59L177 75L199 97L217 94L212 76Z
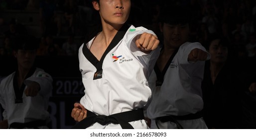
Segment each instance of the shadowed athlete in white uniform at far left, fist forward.
M47 108L52 77L33 66L35 44L28 41L17 44L14 56L18 68L0 83L0 104L4 109L0 128L47 129L50 120Z

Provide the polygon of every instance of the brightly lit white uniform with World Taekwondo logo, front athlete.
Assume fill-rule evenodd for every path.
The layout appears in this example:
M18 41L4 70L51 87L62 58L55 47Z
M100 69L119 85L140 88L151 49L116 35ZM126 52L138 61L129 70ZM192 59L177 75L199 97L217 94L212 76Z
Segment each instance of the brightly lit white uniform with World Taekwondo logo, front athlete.
M97 115L112 115L143 108L151 97L148 77L159 56L159 49L144 54L135 45L133 38L143 32L154 34L143 27L130 26L124 38L104 59L102 78L95 79L96 67L83 54L83 47L90 49L94 38L79 49L80 71L85 86L85 95L80 103ZM117 61L113 56L119 57ZM95 60L97 60L94 57ZM98 60L97 60L98 61ZM115 61L115 62L114 62ZM144 120L129 122L134 129L147 129ZM88 129L121 129L120 125L102 126L95 123Z

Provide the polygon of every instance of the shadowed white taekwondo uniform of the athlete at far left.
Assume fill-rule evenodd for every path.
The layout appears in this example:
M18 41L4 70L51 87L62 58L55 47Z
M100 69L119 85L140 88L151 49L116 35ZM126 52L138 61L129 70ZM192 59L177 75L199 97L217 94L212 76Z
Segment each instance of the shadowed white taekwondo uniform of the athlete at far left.
M40 91L34 97L26 96L23 93L23 102L15 103L14 75L15 72L11 73L2 79L0 83L0 104L4 109L3 120L8 120L8 126L14 122L27 123L36 120L49 120L47 109L52 92L52 77L44 70L36 68L35 72L24 80L24 84L26 85L29 81L35 81L40 85Z

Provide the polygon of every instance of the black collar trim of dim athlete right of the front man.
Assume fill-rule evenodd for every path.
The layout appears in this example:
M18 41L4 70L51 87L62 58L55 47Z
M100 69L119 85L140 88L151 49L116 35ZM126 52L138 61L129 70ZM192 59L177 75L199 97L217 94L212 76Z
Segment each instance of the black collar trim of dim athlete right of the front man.
M163 49L162 49L162 50L163 50ZM161 50L161 51L162 51L162 50ZM173 58L174 58L175 55L177 54L178 50L179 50L179 49L176 49L176 50L173 52L173 54L172 54L171 57L169 58L169 60L168 60L168 62L166 63L166 65L165 65L165 67L164 67L164 69L163 69L162 72L159 70L157 64L155 64L155 66L154 66L154 71L155 71L155 73L156 73L156 78L157 78L157 80L156 80L156 86L161 86L161 85L162 85L164 75L165 75L166 71L168 70L168 68L169 68L169 66L170 66L170 64L171 64L171 62L172 62L172 60L173 60Z

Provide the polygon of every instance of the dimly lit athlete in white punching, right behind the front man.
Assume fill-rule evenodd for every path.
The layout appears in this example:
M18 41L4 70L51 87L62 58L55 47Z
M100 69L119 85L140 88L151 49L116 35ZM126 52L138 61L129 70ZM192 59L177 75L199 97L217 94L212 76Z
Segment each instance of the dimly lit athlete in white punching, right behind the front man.
M163 47L149 78L152 100L147 109L151 129L205 129L201 81L210 54L188 40L189 25L183 7L161 12Z

